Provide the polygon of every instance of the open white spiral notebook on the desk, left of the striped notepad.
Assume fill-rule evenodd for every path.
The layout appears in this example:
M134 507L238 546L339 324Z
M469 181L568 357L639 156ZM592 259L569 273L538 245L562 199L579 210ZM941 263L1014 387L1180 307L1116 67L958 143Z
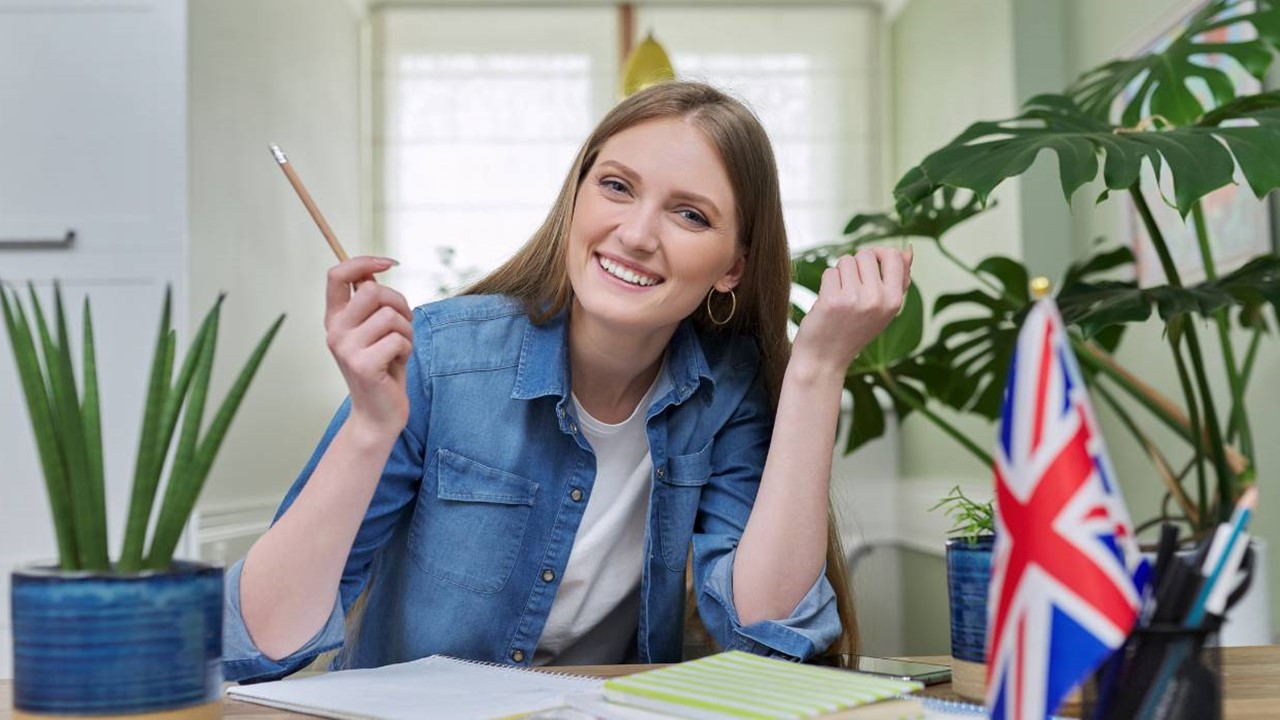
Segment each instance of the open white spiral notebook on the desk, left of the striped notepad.
M340 720L481 720L520 716L599 692L603 680L433 655L370 670L227 689L234 700Z

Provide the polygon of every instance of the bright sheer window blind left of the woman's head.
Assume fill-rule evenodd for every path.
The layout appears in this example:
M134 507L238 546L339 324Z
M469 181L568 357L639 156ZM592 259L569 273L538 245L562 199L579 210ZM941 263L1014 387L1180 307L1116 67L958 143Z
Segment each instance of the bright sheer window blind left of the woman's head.
M540 224L613 102L612 8L404 8L375 23L375 232L410 304Z

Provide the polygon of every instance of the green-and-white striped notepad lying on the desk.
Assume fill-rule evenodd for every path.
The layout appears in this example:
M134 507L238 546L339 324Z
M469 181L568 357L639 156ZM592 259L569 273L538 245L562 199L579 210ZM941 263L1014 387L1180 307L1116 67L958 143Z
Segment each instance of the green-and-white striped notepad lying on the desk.
M604 683L611 702L719 720L815 717L870 705L924 685L850 670L722 652Z

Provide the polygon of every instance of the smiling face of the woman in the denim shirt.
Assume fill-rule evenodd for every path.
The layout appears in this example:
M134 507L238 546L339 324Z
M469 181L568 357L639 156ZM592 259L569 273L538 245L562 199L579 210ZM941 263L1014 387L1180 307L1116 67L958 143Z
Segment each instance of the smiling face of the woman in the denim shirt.
M673 329L713 286L736 286L733 191L703 132L663 118L605 141L577 191L567 263L575 311L640 332Z

